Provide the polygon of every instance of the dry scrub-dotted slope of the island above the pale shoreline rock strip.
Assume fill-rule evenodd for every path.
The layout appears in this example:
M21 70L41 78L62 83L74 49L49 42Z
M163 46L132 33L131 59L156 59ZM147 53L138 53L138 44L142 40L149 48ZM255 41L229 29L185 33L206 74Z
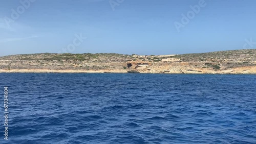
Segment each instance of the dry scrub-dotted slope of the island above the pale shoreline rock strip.
M166 58L180 58L180 62L161 62ZM234 67L255 66L256 49L220 51L201 54L183 54L160 58L154 55L133 57L122 54L26 54L0 57L0 69L126 69L127 63L137 62L153 63L156 66L187 65L191 68L206 68L212 70L225 70Z

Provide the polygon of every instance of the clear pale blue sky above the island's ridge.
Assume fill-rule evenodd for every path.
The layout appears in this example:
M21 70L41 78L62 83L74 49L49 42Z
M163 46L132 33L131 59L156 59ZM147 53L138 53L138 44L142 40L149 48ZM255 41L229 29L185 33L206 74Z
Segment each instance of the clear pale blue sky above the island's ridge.
M205 0L178 32L174 22L198 3L124 0L113 10L109 0L36 0L8 27L6 17L22 4L1 1L0 56L62 52L80 33L87 39L68 52L184 54L243 49L245 39L256 41L254 0Z

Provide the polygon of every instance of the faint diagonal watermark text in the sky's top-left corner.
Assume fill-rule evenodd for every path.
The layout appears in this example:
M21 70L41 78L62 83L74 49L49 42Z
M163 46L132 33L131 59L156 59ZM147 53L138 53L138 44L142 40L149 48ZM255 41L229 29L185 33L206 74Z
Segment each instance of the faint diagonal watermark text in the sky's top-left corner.
M15 20L17 20L20 15L25 13L27 9L30 8L31 4L34 3L36 0L20 0L19 3L20 5L16 9L11 9L11 17L4 17L5 23L8 28L11 28L10 25L11 23L14 23Z

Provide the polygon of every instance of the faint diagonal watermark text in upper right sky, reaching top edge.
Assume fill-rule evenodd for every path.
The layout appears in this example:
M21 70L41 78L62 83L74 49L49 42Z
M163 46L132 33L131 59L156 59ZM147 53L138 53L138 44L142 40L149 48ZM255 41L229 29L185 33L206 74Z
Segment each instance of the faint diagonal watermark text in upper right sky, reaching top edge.
M208 0L211 1L211 0ZM206 6L206 2L205 0L199 0L198 5L195 6L189 6L190 7L190 11L188 11L185 14L181 14L181 22L175 21L174 22L174 26L177 29L178 32L180 32L181 28L185 28L185 26L190 22L191 19L195 18L196 14L199 14L199 12L201 11L202 8L204 8Z

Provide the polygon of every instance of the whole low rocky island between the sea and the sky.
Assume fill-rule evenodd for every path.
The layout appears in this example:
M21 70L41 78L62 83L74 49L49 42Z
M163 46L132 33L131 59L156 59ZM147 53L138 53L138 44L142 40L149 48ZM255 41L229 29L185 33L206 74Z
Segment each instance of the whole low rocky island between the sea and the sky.
M0 57L0 73L256 74L256 49L182 55L25 54Z

